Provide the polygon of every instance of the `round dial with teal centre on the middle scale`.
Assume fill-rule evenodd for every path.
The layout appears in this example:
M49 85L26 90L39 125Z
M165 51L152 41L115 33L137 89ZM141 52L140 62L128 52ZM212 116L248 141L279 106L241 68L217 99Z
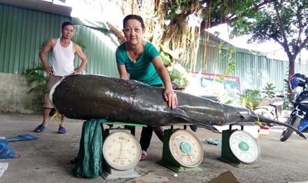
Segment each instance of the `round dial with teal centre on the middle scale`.
M174 160L184 167L198 166L203 159L201 142L190 131L174 131L169 138L169 149Z

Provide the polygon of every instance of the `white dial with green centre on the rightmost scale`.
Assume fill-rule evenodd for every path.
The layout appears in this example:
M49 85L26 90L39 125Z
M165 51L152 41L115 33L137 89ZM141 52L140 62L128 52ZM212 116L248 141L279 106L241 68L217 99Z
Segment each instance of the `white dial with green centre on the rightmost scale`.
M254 163L260 157L260 147L257 140L246 131L235 131L229 138L233 155L243 163Z

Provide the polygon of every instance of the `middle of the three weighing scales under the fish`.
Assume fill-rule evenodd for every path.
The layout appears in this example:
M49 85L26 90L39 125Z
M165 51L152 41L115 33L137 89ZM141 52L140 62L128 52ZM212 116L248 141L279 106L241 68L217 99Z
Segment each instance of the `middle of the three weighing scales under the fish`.
M190 131L184 129L167 129L164 131L162 147L162 164L175 172L195 172L203 159L203 148L200 140Z

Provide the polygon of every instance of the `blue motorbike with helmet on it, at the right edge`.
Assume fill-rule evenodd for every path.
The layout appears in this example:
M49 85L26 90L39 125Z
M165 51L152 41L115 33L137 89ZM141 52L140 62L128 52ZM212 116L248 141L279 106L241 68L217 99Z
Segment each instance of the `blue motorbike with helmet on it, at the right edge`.
M300 73L295 73L289 80L290 88L295 92L295 99L292 101L292 110L288 117L287 124L294 126L302 133L308 132L308 90L306 90L308 78ZM284 129L280 140L286 141L293 133L293 129Z

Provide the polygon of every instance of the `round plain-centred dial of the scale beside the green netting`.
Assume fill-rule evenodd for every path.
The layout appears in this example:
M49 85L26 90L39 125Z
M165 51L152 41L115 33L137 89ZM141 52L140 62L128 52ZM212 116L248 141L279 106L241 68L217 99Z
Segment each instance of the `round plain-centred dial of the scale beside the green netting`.
M141 147L131 133L116 131L110 133L104 140L103 156L111 168L129 170L139 162Z

